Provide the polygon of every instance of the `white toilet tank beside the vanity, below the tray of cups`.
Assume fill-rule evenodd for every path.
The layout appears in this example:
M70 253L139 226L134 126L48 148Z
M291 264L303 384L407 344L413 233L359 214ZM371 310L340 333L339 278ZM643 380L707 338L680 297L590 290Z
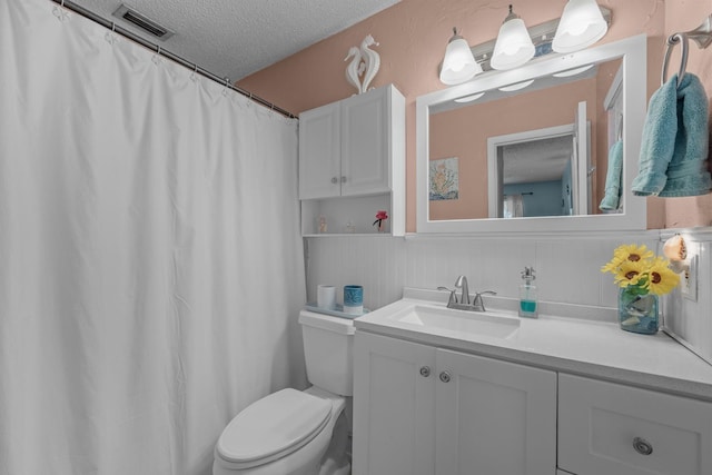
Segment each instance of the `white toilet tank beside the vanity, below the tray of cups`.
M303 310L299 314L309 382L340 396L354 393L354 320Z

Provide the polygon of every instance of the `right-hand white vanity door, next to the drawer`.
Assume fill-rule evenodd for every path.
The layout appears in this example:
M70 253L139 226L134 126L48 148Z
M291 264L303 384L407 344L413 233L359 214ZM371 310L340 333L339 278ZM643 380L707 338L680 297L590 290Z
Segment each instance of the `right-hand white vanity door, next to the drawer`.
M556 473L556 373L443 349L437 368L437 474Z

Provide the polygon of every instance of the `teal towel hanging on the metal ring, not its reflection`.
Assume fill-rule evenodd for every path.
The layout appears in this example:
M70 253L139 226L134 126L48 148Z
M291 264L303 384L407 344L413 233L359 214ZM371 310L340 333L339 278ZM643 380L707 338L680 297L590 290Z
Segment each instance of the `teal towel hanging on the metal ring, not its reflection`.
M643 125L640 172L633 194L696 196L710 192L708 169L708 98L696 76L678 75L650 99Z

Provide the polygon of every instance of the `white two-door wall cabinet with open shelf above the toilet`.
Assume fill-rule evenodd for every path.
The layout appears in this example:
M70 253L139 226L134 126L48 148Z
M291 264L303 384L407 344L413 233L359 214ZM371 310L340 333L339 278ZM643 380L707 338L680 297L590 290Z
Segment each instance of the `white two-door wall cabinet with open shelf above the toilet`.
M303 234L405 232L405 98L389 85L299 115ZM347 225L350 225L347 229Z

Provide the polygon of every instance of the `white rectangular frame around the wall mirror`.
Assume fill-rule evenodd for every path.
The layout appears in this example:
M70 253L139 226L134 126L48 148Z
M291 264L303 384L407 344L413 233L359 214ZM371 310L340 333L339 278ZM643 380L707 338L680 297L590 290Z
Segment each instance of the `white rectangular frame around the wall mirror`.
M647 227L646 198L631 191L637 175L637 157L645 119L647 57L645 34L626 38L574 53L552 53L521 68L490 71L469 82L442 89L416 99L416 199L417 232L553 232L597 230L642 230ZM479 218L431 220L428 198L429 110L443 102L577 68L592 62L622 58L623 91L623 212L532 218ZM473 103L473 105L476 105ZM473 106L469 105L469 106ZM606 158L607 159L607 158Z

